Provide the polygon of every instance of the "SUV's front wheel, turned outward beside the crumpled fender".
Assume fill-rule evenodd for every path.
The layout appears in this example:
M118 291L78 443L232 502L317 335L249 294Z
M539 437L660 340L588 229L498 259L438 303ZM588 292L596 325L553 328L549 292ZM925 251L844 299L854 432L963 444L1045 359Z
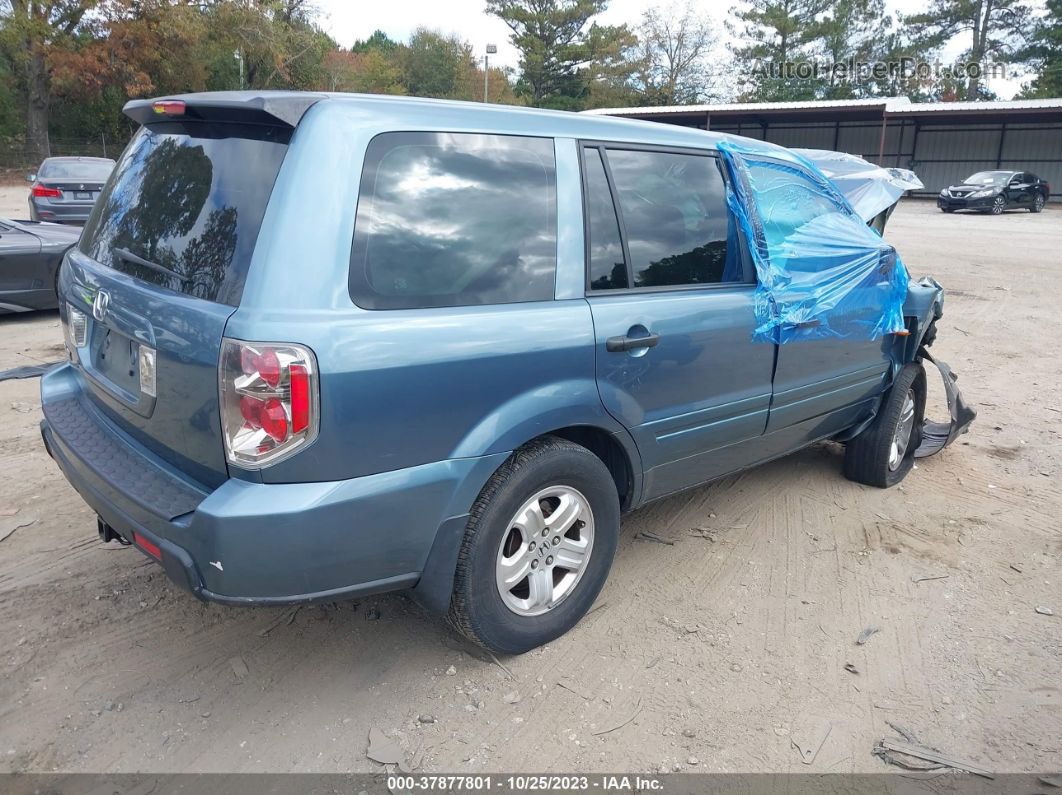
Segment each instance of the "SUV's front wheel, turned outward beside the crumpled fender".
M874 421L849 442L844 477L868 486L888 488L914 466L922 443L926 374L919 362L905 364L886 394Z

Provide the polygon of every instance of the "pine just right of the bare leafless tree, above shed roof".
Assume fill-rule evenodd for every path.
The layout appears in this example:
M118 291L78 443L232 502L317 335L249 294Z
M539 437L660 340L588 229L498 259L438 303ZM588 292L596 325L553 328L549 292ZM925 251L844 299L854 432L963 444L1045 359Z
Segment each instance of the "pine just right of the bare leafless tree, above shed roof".
M726 28L746 101L813 100L822 81L792 71L813 64L828 0L751 0L731 8Z

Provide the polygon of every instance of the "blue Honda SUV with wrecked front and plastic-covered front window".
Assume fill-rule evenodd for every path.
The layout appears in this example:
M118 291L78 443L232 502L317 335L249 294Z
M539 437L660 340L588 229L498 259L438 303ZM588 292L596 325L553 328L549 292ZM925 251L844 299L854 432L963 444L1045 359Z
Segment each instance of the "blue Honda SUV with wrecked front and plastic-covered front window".
M771 235L829 247L850 212L786 150L405 98L125 114L63 266L41 431L103 540L202 599L412 589L519 653L590 607L624 512L819 439L862 483L911 468L942 292L868 230L855 305L801 288L785 319L819 260ZM756 168L785 207L740 204ZM866 254L833 249L829 273ZM890 327L817 333L897 283Z

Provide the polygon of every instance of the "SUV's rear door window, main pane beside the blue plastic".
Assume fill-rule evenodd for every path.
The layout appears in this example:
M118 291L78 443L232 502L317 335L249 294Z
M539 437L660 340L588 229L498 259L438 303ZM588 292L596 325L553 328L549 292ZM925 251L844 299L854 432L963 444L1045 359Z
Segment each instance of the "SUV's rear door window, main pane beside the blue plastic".
M729 246L726 189L716 158L609 150L623 219L633 287L740 281Z

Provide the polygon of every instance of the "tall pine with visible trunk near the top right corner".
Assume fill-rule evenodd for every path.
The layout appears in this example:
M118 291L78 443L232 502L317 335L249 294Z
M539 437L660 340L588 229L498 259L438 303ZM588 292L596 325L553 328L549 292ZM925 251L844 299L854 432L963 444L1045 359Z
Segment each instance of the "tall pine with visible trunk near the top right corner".
M967 64L983 68L990 61L1012 63L1032 23L1032 11L1027 0L930 0L922 14L904 18L912 40L932 49L969 35L970 46L963 53ZM982 77L972 69L964 81L964 90L957 99L987 99Z

